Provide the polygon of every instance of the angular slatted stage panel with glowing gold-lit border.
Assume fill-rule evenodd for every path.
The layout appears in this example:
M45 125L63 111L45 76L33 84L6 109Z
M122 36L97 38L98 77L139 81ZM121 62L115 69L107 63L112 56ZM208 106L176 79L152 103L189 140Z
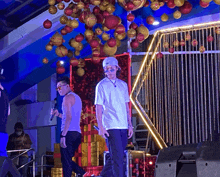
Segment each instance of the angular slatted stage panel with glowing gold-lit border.
M212 140L219 96L220 21L155 32L130 98L158 147Z

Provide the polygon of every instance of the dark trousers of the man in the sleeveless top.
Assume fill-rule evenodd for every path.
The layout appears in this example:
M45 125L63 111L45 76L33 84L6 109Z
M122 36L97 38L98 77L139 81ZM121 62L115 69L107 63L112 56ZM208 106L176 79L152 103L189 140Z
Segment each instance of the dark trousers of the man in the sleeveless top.
M72 171L76 174L83 175L85 171L74 161L72 157L81 143L81 133L77 131L68 131L66 134L66 148L60 147L61 162L63 166L63 176L71 177Z

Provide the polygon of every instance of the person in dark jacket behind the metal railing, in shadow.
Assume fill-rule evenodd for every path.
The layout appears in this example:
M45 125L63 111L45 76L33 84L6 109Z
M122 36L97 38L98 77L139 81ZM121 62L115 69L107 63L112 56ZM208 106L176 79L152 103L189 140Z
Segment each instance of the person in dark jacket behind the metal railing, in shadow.
M28 134L24 133L23 124L21 122L17 122L14 126L15 132L9 136L7 150L21 150L21 149L30 149L32 141ZM12 152L10 158L14 158L13 162L17 167L20 167L26 163L28 163L28 154L20 152ZM18 158L15 158L19 154L22 154ZM20 169L20 173L23 177L27 177L28 173L28 165L25 165Z

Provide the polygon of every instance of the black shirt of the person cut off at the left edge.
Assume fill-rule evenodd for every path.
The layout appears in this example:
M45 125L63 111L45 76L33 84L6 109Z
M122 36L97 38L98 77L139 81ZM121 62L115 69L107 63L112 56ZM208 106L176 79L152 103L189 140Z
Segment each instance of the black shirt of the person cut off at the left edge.
M6 133L9 99L5 90L0 88L0 132Z

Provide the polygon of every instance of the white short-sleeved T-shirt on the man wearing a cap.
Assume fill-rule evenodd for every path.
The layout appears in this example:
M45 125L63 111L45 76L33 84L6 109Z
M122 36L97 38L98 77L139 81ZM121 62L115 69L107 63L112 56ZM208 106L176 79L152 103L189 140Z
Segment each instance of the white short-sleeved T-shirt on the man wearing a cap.
M104 78L97 84L95 105L103 107L102 124L106 130L128 128L126 102L129 101L126 82Z

